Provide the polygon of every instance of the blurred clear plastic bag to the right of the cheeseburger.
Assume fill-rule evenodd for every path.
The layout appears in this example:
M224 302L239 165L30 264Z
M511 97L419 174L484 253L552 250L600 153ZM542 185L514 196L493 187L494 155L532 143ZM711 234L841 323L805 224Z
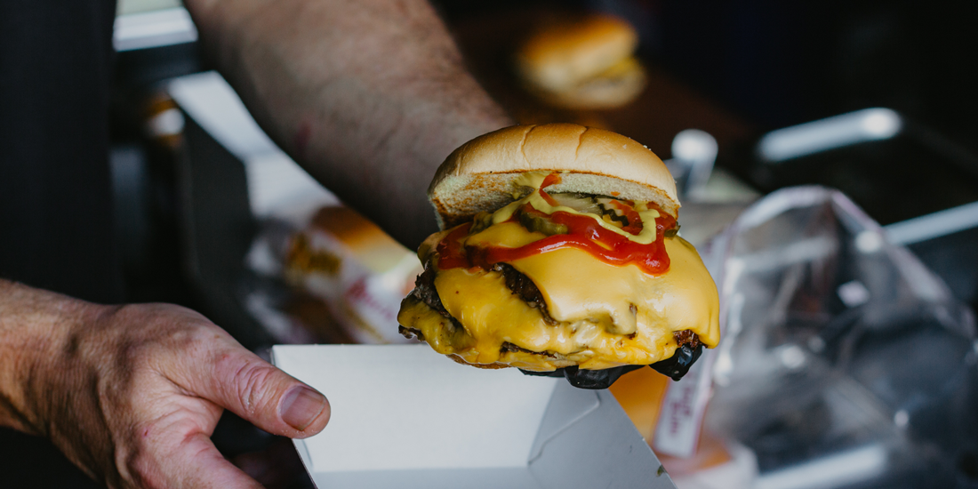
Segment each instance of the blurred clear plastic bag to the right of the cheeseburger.
M706 422L754 452L754 487L978 487L973 315L851 200L778 191L704 258L724 330Z

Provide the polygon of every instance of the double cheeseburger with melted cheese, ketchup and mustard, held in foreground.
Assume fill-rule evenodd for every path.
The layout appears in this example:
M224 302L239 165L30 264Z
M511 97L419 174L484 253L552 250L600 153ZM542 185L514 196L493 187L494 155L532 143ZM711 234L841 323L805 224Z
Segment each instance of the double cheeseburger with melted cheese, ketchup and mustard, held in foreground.
M624 136L575 124L469 141L428 189L443 230L400 332L483 369L604 388L651 365L681 378L720 339L717 289L677 236L676 186Z

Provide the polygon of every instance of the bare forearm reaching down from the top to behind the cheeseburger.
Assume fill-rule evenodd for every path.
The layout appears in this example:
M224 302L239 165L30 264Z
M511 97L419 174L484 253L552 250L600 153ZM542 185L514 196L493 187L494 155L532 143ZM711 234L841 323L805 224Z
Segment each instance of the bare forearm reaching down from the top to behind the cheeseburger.
M206 52L273 139L404 244L468 139L511 123L424 0L192 0Z

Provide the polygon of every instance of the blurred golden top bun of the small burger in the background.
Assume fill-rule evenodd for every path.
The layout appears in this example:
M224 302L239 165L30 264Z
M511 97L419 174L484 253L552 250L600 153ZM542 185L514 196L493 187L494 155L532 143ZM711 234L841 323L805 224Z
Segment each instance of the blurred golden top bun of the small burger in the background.
M545 26L516 54L516 67L531 84L563 92L629 58L639 44L631 24L592 15Z

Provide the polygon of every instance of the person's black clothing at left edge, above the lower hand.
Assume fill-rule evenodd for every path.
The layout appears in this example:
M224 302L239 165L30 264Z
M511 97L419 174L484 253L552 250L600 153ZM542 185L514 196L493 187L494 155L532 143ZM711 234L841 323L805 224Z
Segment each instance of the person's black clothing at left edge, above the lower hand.
M0 277L122 298L108 164L113 0L0 1Z

